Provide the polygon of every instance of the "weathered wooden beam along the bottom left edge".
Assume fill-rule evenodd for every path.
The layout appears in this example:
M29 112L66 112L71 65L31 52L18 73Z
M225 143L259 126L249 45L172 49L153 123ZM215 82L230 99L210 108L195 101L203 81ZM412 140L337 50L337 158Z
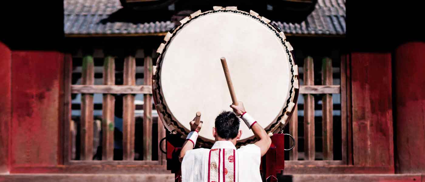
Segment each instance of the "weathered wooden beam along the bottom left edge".
M0 182L174 182L174 174L12 174Z

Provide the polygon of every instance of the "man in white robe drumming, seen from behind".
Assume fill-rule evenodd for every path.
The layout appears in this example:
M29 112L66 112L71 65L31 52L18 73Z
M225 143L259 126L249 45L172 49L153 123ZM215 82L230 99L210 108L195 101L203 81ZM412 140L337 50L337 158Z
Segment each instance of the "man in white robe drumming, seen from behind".
M242 102L230 107L234 112L223 111L215 118L212 128L215 143L211 149L193 149L202 121L198 125L194 120L190 122L191 132L179 155L183 182L261 182L261 157L269 150L272 141L245 111ZM259 140L236 149L236 142L242 135L238 116Z

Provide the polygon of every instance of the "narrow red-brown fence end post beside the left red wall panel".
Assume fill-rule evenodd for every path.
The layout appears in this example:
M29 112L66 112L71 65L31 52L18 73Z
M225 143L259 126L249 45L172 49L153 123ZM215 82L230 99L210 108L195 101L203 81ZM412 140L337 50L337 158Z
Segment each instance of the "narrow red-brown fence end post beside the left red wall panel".
M71 120L71 84L72 84L72 55L65 54L64 60L64 100L63 100L63 131L64 131L64 164L71 159L75 159L75 140L77 129L74 130L75 123Z

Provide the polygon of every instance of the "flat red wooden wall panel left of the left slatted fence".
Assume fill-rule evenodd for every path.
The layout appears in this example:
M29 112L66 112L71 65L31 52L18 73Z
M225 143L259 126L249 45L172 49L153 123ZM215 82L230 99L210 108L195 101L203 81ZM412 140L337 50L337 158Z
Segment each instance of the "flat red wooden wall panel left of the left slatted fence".
M55 166L62 160L63 54L13 51L11 70L12 168Z

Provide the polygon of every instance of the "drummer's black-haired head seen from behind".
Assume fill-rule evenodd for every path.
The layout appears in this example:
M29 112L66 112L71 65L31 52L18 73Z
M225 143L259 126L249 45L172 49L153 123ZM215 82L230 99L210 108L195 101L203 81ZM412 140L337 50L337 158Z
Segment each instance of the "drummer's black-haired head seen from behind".
M215 118L215 127L212 128L212 135L215 141L231 141L236 145L236 141L241 137L242 131L239 130L239 117L235 112L223 111Z

